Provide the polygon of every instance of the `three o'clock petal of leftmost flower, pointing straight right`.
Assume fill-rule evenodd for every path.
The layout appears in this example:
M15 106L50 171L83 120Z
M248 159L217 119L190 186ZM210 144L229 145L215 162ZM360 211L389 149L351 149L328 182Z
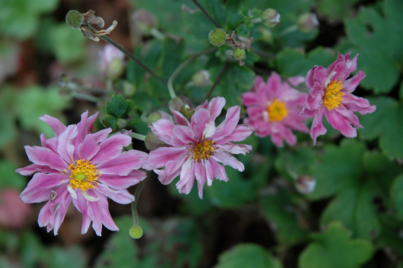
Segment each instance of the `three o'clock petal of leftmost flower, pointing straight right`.
M102 175L98 181L108 185L116 190L127 189L131 185L135 185L147 177L147 173L142 170L132 170L127 176L118 175Z

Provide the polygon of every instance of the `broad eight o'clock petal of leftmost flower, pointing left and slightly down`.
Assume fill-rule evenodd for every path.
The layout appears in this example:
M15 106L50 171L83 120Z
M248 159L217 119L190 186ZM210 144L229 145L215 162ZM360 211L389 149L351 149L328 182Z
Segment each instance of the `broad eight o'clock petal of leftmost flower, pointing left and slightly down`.
M49 200L51 188L69 180L69 175L59 172L35 173L27 187L21 192L21 199L24 203L40 203Z

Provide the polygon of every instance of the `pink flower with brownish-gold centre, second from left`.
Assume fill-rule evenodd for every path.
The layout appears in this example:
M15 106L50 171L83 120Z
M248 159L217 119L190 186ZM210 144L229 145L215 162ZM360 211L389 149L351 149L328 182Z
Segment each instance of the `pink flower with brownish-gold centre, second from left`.
M148 169L153 169L163 184L169 184L179 176L176 187L180 193L188 194L196 179L198 195L203 198L206 181L209 186L214 178L228 181L223 165L244 170L243 164L232 155L246 155L252 147L232 142L245 140L252 130L247 125L238 125L239 106L230 107L225 120L216 126L214 121L224 105L223 97L216 97L210 102L206 100L195 108L190 121L171 109L176 124L168 119L159 119L150 126L155 135L167 144L151 151L146 161ZM165 168L160 169L162 167Z

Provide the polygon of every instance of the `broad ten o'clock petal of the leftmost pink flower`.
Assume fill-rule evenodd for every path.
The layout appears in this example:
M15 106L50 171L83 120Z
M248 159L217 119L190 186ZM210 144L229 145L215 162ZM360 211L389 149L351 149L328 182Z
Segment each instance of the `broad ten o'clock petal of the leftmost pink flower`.
M57 171L64 171L69 168L63 159L52 150L39 146L25 146L29 161L40 166L49 166Z

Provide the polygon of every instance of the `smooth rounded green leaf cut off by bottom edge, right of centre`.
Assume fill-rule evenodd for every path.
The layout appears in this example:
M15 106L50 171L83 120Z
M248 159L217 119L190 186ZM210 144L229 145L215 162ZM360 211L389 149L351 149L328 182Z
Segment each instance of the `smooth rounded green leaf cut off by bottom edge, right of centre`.
M239 244L219 256L214 268L282 268L281 262L262 246Z

